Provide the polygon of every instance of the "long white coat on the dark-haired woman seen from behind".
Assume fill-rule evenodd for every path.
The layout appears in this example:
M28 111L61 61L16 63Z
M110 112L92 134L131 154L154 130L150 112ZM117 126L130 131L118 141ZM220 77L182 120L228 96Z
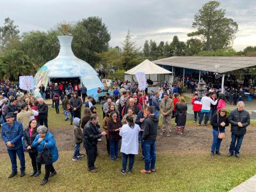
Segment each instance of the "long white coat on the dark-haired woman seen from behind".
M134 124L133 129L128 124L122 126L119 134L122 136L121 152L124 154L139 153L139 132L140 126Z

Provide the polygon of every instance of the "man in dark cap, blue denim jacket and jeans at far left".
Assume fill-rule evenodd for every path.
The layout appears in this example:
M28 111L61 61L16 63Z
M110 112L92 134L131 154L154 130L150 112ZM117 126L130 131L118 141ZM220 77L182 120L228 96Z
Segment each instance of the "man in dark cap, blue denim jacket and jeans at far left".
M14 120L13 113L7 113L6 123L2 126L1 136L6 145L9 157L12 162L12 173L8 178L12 178L17 175L17 156L20 160L20 177L25 175L25 157L22 147L22 136L23 136L23 126L20 122Z

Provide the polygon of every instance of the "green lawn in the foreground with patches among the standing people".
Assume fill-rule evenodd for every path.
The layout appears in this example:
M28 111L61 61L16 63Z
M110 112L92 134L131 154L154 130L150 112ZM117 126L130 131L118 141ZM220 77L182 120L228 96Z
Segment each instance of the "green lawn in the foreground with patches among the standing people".
M97 109L100 113L100 106ZM49 109L49 116L51 129L71 128L54 109ZM256 173L255 150L251 154L243 152L240 159L212 158L209 152L195 150L157 152L156 172L150 175L138 172L144 165L139 156L136 156L132 175L122 175L119 172L122 158L111 162L108 156L100 154L96 161L99 172L90 173L86 170L86 157L73 162L73 151L60 150L59 154L59 160L54 163L58 175L49 179L45 186L39 185L44 177L44 166L40 177L29 177L32 168L28 154L27 175L23 178L17 175L13 179L7 178L11 167L8 155L0 154L0 191L228 191Z

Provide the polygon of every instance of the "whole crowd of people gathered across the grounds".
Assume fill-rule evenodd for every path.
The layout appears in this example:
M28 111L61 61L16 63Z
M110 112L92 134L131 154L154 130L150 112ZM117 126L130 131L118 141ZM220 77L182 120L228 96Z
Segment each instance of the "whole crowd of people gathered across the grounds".
M68 83L69 84L69 83ZM188 84L189 85L189 84ZM60 114L60 100L63 107L63 116L70 124L74 124L74 155L73 161L79 161L84 154L80 153L81 143L86 150L89 172L97 172L95 165L98 150L97 143L102 136L106 137L106 152L109 159L116 161L122 153L122 174L132 173L134 156L139 154L141 143L141 160L145 167L141 173L155 172L156 166L156 138L157 133L162 137L171 136L171 122L173 120L177 134L184 134L188 106L184 97L180 95L177 84L169 86L161 83L160 88L141 92L137 83L112 81L111 86L104 82L104 89L98 88L98 93L107 92L99 98L102 106L103 121L100 127L99 115L95 104L97 98L86 95L86 86L78 84L54 83L52 86L52 106L56 114ZM48 86L47 86L48 88ZM31 177L41 174L41 166L45 164L45 176L41 185L48 182L49 177L56 175L53 163L58 160L58 148L54 136L48 127L47 89L40 87L42 97L36 98L28 92L19 89L19 85L10 82L1 84L1 136L6 144L12 163L12 173L9 178L17 175L16 156L20 160L20 177L25 175L24 150L28 151L33 166ZM196 89L195 89L196 90ZM197 125L212 125L211 156L222 155L220 145L225 138L225 127L231 125L232 141L228 156L233 154L239 157L239 150L246 134L246 127L250 125L250 115L244 110L244 102L237 102L237 109L227 114L224 94L216 93L213 88L205 89L205 95L198 97L193 89L193 111ZM88 96L88 97L87 97ZM49 97L48 97L49 98ZM83 116L81 109L84 105ZM99 109L98 109L99 111ZM161 116L162 127L159 127ZM104 131L101 131L102 128ZM158 131L158 129L160 129ZM121 141L121 148L119 144Z

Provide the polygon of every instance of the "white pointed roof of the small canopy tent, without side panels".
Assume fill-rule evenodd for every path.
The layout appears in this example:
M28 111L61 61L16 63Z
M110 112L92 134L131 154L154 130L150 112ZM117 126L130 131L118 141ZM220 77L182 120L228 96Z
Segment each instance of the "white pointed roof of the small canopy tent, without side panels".
M145 75L150 74L172 74L172 72L166 70L163 67L159 67L155 63L145 60L139 65L137 65L134 68L131 68L130 70L127 70L127 72L124 72L124 74L134 75L135 72L145 72Z

